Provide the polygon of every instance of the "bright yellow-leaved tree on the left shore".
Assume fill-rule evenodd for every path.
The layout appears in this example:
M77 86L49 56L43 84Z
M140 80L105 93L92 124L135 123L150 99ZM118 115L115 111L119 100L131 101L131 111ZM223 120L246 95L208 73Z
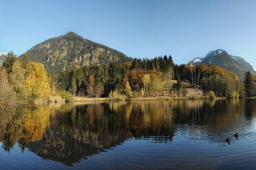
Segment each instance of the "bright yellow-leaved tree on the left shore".
M25 83L30 101L50 95L50 79L41 63L30 62L30 74Z

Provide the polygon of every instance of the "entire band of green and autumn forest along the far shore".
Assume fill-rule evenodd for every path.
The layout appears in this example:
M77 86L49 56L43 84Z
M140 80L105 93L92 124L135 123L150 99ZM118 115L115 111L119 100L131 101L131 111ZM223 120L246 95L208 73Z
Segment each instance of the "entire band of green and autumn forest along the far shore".
M45 66L31 62L28 53L21 60L8 53L0 68L0 100L72 101L74 97L215 97L239 98L256 95L256 77L235 73L215 64L174 64L171 56L137 59L132 62L81 66L60 75L47 73ZM189 94L192 89L193 94Z

